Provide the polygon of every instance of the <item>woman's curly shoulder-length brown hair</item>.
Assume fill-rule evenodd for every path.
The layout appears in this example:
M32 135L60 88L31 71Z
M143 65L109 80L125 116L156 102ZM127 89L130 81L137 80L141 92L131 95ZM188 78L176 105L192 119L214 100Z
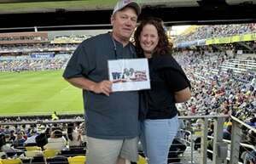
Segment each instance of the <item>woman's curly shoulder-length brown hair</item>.
M143 48L140 45L139 37L143 31L145 25L154 25L158 32L159 42L154 48L154 55L164 55L172 53L172 43L169 42L166 35L166 31L163 28L163 20L160 18L149 17L140 22L140 25L137 26L137 30L134 33L134 42L136 46L137 56L144 57Z

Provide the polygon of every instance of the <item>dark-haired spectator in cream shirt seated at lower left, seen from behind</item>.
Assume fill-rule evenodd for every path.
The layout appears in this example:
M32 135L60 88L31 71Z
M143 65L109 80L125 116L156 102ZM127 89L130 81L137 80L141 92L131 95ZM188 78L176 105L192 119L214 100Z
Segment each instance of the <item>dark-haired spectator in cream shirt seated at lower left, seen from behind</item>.
M55 130L51 133L50 138L48 139L48 144L44 145L44 149L49 150L66 150L67 149L67 140L63 137L60 130Z

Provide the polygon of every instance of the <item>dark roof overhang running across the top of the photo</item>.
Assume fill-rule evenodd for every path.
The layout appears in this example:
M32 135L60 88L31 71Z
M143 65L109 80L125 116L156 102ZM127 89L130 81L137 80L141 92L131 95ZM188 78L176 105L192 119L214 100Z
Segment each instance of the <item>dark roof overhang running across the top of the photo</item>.
M117 0L1 0L0 32L109 29ZM137 0L167 25L256 22L256 0Z

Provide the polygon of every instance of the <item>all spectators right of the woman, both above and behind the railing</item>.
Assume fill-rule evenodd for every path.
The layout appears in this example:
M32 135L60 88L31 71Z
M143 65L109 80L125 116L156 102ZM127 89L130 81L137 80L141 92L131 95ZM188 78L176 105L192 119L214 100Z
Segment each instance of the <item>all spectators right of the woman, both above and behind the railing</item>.
M192 98L179 105L184 115L230 115L239 118L255 128L256 124L256 74L250 65L256 65L255 59L233 59L224 54L211 54L186 51L183 55L177 55L177 59L183 64L183 68L189 75L192 83ZM243 71L237 71L237 65L226 66L238 61L243 65ZM247 61L250 65L245 65ZM192 125L191 125L192 122ZM196 133L204 128L202 120L186 122L186 129ZM213 135L213 123L209 121L208 135ZM230 119L224 123L224 139L231 139ZM243 129L241 143L255 146L256 133L247 128ZM208 149L212 150L212 142L208 143ZM195 139L195 150L201 146L201 138ZM242 157L242 154L246 154ZM255 151L250 148L240 147L240 161L246 158L255 159ZM208 157L212 159L211 153Z

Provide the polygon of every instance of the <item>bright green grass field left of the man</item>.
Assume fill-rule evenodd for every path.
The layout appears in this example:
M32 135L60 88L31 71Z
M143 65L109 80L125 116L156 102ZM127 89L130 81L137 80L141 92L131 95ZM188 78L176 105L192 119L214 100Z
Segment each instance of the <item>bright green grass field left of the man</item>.
M83 113L82 90L62 71L0 72L0 116Z

